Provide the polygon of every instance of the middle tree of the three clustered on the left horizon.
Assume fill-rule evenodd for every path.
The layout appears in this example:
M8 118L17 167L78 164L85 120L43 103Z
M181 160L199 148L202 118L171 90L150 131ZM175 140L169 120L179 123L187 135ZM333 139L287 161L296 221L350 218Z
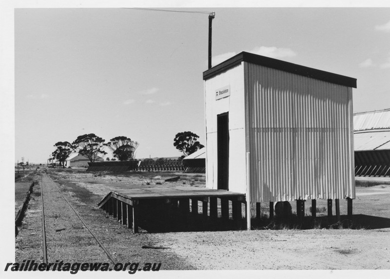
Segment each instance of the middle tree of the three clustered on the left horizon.
M74 150L78 151L78 154L88 158L92 163L98 159L99 155L107 154L104 151L105 140L98 137L96 134L85 134L78 136L73 142Z

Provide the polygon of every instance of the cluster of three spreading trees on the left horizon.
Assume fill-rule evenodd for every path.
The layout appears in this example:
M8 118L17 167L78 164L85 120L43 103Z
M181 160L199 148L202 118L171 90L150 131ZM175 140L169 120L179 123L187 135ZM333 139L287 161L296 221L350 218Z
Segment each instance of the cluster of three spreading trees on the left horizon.
M134 160L138 145L136 141L125 136L117 136L105 143L104 139L91 133L78 136L73 143L57 142L54 145L56 150L53 151L52 156L65 168L65 161L72 152L78 152L79 155L86 157L92 163L99 158L99 155L107 154L104 150L107 147L113 152L114 158L119 161L130 161Z

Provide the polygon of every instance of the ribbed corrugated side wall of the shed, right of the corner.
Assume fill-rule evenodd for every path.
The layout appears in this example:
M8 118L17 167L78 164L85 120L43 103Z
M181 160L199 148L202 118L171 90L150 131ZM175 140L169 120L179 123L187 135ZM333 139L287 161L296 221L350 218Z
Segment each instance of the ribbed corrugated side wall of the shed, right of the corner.
M252 202L354 198L352 89L244 67Z

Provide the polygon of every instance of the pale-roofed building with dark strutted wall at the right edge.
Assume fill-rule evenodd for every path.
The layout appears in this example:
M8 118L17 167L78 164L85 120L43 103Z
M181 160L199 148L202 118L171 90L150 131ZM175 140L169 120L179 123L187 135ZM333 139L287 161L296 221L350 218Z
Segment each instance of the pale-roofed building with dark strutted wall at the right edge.
M356 176L390 175L390 108L353 114Z

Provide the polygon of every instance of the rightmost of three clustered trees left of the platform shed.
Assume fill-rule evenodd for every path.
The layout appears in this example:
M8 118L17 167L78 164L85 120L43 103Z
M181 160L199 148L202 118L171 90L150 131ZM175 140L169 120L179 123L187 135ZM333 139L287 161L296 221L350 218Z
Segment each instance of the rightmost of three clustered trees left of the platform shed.
M138 147L136 141L132 141L125 136L118 136L110 139L107 143L109 149L113 151L114 157L119 161L130 161L134 159L135 151Z

